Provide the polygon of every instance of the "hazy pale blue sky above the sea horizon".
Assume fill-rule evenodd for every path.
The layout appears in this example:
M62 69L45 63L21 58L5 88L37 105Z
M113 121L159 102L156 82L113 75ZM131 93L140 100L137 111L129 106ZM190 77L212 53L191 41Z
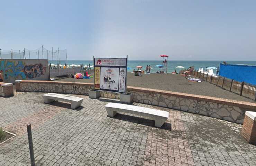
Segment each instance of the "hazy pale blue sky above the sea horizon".
M1 1L0 48L68 59L256 61L256 1Z

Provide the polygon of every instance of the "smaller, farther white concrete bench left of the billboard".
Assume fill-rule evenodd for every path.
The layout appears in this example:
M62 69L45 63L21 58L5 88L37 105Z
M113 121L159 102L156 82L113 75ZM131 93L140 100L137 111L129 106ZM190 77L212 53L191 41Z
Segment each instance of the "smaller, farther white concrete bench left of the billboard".
M78 98L75 96L57 94L57 93L47 93L42 95L45 103L51 103L54 100L63 100L71 103L71 108L75 109L79 107L83 101L83 98Z

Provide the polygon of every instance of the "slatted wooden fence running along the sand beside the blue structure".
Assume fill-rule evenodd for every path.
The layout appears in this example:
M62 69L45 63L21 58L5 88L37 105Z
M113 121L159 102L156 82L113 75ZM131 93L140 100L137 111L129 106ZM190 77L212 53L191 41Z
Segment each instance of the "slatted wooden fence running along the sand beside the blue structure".
M185 71L181 70L179 74L184 74ZM212 75L205 74L204 72L193 71L192 75L199 77L203 81L210 82L222 89L228 90L229 92L235 92L241 95L249 96L256 101L256 85L252 85L246 82L238 82L225 77L213 77Z

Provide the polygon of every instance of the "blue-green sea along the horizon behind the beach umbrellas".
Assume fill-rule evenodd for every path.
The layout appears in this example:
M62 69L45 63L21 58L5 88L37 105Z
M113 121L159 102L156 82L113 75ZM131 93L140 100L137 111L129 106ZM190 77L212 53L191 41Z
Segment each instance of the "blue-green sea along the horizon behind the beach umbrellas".
M150 65L152 67L150 73L156 73L157 71L161 70L161 68L156 67L156 65L161 65L163 61L129 61L128 60L128 72L132 72L132 70L137 70L136 66L142 66L143 70L146 70L146 66ZM228 64L244 64L244 65L256 65L256 61L225 61ZM57 64L56 61L49 61L51 64ZM182 68L176 68L177 66L182 66L184 68L189 68L190 66L194 66L195 70L198 70L201 68L206 67L218 67L220 63L223 63L223 61L167 61L167 72L171 73L174 70L176 72L179 72L182 70ZM61 65L65 65L66 61L60 61ZM68 60L68 65L79 65L84 64L84 66L93 66L93 61L76 61L76 60ZM216 69L213 70L214 73L216 72Z

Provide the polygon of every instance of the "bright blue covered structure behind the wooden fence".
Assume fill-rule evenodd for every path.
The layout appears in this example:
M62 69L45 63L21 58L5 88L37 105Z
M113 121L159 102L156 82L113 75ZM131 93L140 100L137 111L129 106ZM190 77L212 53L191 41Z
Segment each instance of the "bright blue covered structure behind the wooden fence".
M256 85L256 65L220 64L219 75Z

